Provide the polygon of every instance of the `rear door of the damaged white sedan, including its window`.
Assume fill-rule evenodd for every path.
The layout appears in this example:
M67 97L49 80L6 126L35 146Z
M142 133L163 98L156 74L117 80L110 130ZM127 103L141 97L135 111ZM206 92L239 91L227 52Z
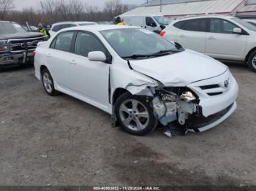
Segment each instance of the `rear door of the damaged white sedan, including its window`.
M67 31L58 34L53 42L50 44L50 49L47 52L47 63L50 70L50 74L60 87L69 89L69 58L72 56L71 44L74 38L75 32Z

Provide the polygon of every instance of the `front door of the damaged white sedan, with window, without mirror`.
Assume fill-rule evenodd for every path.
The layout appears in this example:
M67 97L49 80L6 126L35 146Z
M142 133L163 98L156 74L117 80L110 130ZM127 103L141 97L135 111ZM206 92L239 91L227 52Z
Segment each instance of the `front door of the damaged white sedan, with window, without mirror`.
M101 61L89 61L88 54L92 51L109 53L97 36L89 32L78 32L73 63L70 67L72 88L84 98L108 106L108 83L110 64Z

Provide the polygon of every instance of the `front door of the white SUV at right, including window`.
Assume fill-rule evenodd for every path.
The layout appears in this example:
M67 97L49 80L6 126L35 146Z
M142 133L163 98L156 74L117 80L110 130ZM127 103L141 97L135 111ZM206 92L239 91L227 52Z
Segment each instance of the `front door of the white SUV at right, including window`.
M233 34L233 29L239 27L228 20L209 18L208 22L206 54L219 59L243 60L246 34Z

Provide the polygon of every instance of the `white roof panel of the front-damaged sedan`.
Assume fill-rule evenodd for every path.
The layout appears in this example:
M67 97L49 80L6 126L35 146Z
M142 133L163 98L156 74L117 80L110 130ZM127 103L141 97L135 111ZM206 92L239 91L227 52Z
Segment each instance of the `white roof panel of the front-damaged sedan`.
M139 28L137 26L117 26L117 25L91 25L91 26L75 26L72 28L64 28L61 31L105 31L105 30L112 30L112 29L121 29L121 28Z

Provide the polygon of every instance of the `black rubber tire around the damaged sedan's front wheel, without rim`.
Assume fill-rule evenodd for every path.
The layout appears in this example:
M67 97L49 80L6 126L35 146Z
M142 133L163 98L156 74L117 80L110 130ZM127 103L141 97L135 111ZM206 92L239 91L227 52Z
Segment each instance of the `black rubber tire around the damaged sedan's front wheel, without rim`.
M146 109L148 109L149 122L148 122L148 125L146 126L146 128L144 128L143 130L129 129L129 128L127 128L126 125L124 125L124 123L121 120L121 117L120 117L120 114L119 114L120 106L124 101L127 101L129 99L135 99L137 101L140 101L146 107ZM130 93L124 93L123 95L121 95L118 98L118 100L116 101L115 112L116 112L116 117L117 117L117 120L118 120L119 125L121 126L121 128L124 131L126 131L127 133L135 135L135 136L145 136L146 134L148 134L152 130L154 130L154 128L156 127L156 124L157 124L157 119L154 116L154 111L151 108L151 106L146 101L144 101L143 98L140 98L139 96L136 96L136 95L132 95Z

